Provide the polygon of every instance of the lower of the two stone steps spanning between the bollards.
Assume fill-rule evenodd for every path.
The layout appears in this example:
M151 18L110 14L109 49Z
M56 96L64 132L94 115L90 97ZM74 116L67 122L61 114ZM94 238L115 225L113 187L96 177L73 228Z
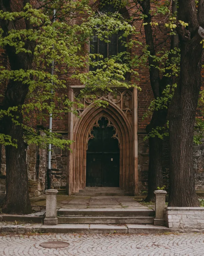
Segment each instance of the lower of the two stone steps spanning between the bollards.
M152 224L154 217L58 217L59 224Z

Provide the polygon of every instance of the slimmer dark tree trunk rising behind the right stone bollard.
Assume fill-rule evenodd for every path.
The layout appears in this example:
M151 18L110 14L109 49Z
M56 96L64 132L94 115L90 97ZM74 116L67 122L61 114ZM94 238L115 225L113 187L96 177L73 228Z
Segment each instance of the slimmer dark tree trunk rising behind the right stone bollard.
M150 51L151 56L156 55L154 39L153 39L153 31L151 26L151 4L150 0L140 1L142 6L143 13L146 15L144 19L144 23L147 25L144 26L145 28L145 38L146 44L148 45L148 50ZM176 1L173 3L173 8L176 6ZM175 10L173 10L174 12ZM177 37L172 36L171 39L171 49L174 49L178 46ZM159 70L156 66L159 66L159 63L153 60L153 58L149 56L149 67L150 67L150 83L152 87L152 91L154 94L154 98L162 97L162 92L166 88L167 85L172 85L173 78L163 75L163 78L160 79L159 77ZM169 60L171 62L171 58L173 55L169 55ZM166 64L166 67L169 64ZM168 73L171 73L168 70ZM150 134L153 129L156 127L164 127L166 124L166 118L168 114L168 108L162 108L155 110L150 124L146 127L147 134ZM162 130L160 131L163 132ZM163 170L162 170L162 148L163 148L163 140L155 137L149 138L149 171L148 171L148 195L145 201L150 202L154 201L154 190L157 187L163 187Z

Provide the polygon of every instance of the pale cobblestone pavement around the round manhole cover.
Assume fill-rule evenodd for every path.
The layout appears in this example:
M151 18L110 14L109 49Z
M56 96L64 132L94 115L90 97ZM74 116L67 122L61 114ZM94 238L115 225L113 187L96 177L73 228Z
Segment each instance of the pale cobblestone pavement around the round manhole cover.
M64 241L64 248L43 248L47 241ZM35 234L0 236L0 256L180 256L204 255L204 234L79 235Z

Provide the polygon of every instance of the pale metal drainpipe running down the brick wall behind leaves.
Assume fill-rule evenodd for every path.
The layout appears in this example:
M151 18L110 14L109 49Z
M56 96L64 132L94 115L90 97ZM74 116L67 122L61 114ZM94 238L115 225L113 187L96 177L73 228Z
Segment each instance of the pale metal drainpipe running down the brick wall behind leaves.
M55 22L55 14L56 10L53 11L53 23ZM54 60L52 60L52 69L51 69L51 74L54 75ZM52 81L53 85L53 81ZM51 94L53 93L53 90L51 89ZM52 132L52 113L50 114L50 119L49 119L49 130ZM48 189L51 188L51 147L52 144L48 145L48 172L47 172L47 180L48 180Z

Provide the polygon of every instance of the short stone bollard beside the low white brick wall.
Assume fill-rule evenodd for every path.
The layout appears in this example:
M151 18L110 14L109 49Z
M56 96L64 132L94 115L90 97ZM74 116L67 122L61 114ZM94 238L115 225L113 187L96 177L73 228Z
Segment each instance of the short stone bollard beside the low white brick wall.
M155 190L154 194L155 194L154 225L164 226L165 225L165 218L164 218L165 199L166 199L167 191Z

